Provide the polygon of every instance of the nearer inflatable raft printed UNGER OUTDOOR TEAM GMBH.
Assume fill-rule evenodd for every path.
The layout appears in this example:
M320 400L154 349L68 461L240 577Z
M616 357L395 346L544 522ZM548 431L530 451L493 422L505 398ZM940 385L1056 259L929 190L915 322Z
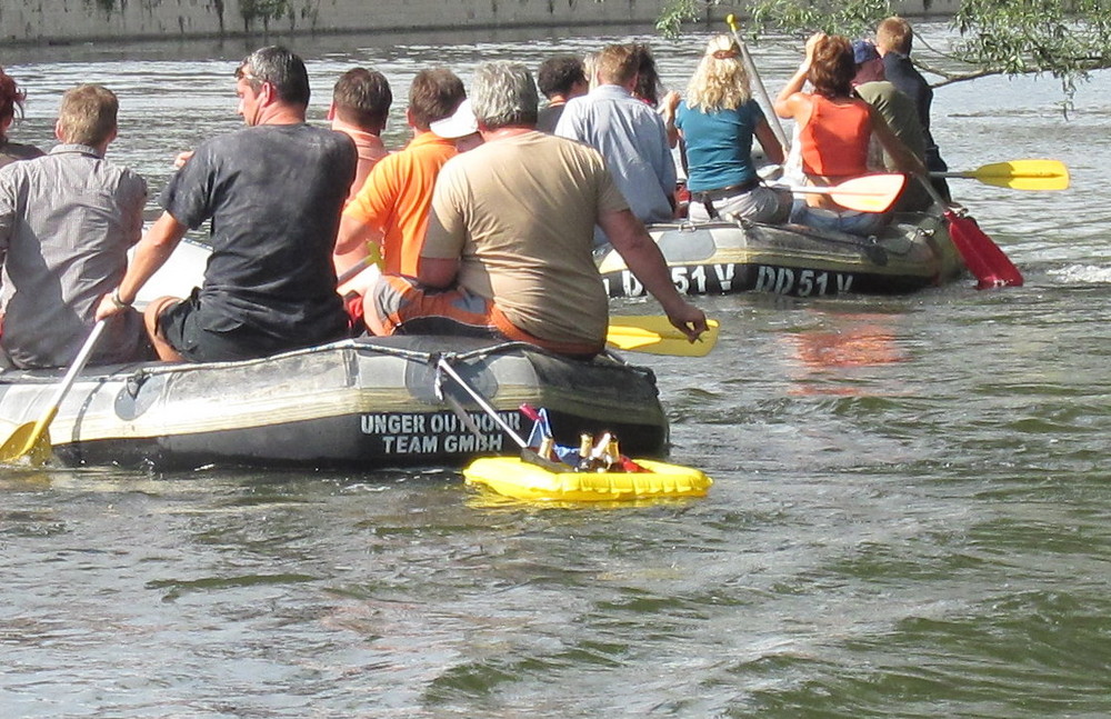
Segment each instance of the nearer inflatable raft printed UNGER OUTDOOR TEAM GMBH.
M529 403L548 409L561 441L609 430L637 456L665 450L668 421L651 370L611 356L588 362L517 342L443 337L344 340L240 362L90 369L61 405L50 437L67 465L374 469L518 455L441 361L517 431L531 425L520 413ZM38 419L61 376L0 375L2 431Z

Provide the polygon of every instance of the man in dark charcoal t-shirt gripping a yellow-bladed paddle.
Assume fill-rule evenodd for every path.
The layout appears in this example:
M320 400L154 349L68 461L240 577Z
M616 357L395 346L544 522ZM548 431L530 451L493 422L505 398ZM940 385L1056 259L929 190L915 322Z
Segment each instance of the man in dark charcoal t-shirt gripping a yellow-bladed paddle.
M146 310L147 332L167 361L266 357L348 330L332 248L354 179L354 143L306 124L309 76L286 48L256 50L236 81L248 127L201 143L173 176L160 198L166 211L97 312L129 308L186 231L211 219L203 286Z

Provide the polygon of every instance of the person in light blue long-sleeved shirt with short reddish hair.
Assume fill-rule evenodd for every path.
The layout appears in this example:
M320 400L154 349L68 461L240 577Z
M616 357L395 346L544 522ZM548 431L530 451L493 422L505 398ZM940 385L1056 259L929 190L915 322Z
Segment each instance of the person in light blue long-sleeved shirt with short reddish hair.
M674 216L675 166L663 120L632 96L637 61L628 46L604 48L598 58L600 84L567 103L556 134L602 153L639 220L667 222Z

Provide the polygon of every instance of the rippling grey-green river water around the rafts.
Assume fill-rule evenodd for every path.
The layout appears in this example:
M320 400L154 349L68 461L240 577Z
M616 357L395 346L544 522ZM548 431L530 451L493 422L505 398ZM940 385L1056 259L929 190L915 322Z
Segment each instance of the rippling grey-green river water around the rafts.
M340 71L383 70L396 147L414 69L466 81L611 39L292 44L321 122ZM704 37L642 39L681 88ZM800 48L753 48L771 92ZM103 82L110 156L157 192L177 151L239 127L249 49L6 49L30 94L12 136L49 147L60 92ZM988 78L934 104L955 169L1072 170L1065 192L953 181L1024 287L707 298L713 353L637 357L705 499L537 508L442 470L0 475L0 716L1111 715L1111 76L1069 119L1059 98Z

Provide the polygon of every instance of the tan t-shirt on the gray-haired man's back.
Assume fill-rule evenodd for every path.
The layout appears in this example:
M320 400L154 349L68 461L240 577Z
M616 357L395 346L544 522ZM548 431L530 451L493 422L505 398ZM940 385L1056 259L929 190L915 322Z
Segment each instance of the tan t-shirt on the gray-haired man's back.
M598 342L608 300L590 252L594 218L622 204L612 182L602 183L603 169L597 152L542 132L483 144L444 166L438 202L468 216L460 286L541 339Z

